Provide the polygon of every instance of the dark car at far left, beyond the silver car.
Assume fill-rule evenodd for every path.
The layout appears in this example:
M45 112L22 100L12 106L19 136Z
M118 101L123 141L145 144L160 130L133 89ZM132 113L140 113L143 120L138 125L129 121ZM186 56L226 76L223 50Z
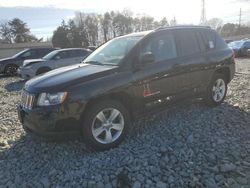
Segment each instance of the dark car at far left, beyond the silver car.
M54 48L30 48L23 50L13 57L0 59L0 74L15 75L19 66L23 64L26 59L41 58Z

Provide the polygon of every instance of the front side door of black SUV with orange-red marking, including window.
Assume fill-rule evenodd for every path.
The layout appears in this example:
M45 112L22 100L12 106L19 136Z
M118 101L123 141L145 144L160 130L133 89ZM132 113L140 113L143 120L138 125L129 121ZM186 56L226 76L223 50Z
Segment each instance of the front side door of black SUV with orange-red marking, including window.
M134 74L136 95L144 103L176 94L177 48L173 33L156 33L140 45L139 59L146 53L154 55L152 63L143 64ZM139 60L140 61L140 60Z

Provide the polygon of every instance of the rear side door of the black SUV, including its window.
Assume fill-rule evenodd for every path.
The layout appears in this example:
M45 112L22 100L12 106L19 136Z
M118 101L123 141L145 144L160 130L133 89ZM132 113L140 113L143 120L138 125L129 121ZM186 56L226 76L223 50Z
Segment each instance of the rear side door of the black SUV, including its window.
M176 30L180 59L176 66L178 75L176 90L183 95L199 93L204 88L207 77L206 47L197 29Z

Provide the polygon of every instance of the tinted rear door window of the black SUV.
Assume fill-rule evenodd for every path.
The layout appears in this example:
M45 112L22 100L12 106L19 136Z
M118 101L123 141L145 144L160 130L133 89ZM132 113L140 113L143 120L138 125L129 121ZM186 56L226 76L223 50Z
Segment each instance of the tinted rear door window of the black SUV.
M200 52L196 32L190 30L177 31L178 44L182 56Z

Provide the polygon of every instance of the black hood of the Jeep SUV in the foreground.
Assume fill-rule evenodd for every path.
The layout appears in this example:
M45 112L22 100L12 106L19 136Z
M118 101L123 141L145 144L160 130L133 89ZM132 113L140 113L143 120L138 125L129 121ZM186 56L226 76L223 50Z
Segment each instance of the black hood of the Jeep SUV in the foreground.
M111 74L117 66L77 64L55 69L26 82L31 93L65 91L68 87Z

